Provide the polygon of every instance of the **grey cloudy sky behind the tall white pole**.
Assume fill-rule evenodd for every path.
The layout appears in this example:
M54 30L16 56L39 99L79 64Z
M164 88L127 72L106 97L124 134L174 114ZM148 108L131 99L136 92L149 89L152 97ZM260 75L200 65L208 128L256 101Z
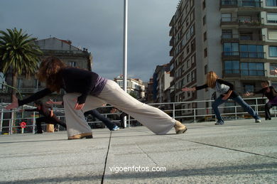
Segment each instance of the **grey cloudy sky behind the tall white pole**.
M128 77L144 82L156 65L170 62L168 26L179 0L129 0ZM1 0L0 30L22 28L88 48L93 70L113 79L122 73L124 0Z

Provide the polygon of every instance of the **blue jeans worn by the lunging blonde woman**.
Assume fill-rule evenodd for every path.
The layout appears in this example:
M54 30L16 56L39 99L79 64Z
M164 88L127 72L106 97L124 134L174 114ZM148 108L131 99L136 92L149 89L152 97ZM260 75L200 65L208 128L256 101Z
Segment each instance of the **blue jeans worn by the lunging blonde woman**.
M259 115L241 98L241 96L237 96L232 98L234 102L237 102L241 107L244 108L244 111L248 112L254 119L260 119ZM212 103L212 109L214 110L214 114L217 116L217 121L224 122L220 112L219 112L219 105L227 102L227 100L223 100L221 96L219 96L214 102Z

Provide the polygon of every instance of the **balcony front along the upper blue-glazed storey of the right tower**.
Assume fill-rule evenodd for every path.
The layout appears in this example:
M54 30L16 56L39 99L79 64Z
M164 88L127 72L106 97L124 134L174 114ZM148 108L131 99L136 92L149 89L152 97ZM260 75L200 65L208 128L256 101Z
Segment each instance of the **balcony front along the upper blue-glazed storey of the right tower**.
M266 53L264 52L239 52L230 51L222 52L222 57L237 57L237 58L266 58Z

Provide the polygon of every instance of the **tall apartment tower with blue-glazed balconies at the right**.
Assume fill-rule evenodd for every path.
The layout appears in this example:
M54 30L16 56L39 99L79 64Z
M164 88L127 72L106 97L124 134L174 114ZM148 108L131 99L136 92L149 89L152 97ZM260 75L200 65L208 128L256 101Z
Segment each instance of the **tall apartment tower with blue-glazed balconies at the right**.
M262 80L277 86L277 77L271 74L277 66L276 0L181 0L169 25L174 77L170 86L175 102L216 97L211 89L181 91L185 86L205 84L210 70L232 82L241 94L261 89ZM205 109L210 102L183 105L194 107ZM205 109L201 113L210 112Z

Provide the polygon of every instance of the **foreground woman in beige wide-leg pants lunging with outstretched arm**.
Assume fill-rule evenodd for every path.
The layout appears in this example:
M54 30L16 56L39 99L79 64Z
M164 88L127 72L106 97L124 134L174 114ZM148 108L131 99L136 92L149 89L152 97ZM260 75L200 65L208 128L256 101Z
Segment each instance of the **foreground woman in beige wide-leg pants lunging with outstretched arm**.
M92 130L87 124L84 112L112 104L117 109L130 114L155 134L166 134L175 127L176 134L183 134L187 128L179 121L168 116L158 108L139 102L112 80L107 80L97 73L67 67L60 59L48 57L40 64L38 80L46 83L46 88L27 99L18 100L6 107L12 109L52 92L67 92L63 96L68 139L92 138Z

